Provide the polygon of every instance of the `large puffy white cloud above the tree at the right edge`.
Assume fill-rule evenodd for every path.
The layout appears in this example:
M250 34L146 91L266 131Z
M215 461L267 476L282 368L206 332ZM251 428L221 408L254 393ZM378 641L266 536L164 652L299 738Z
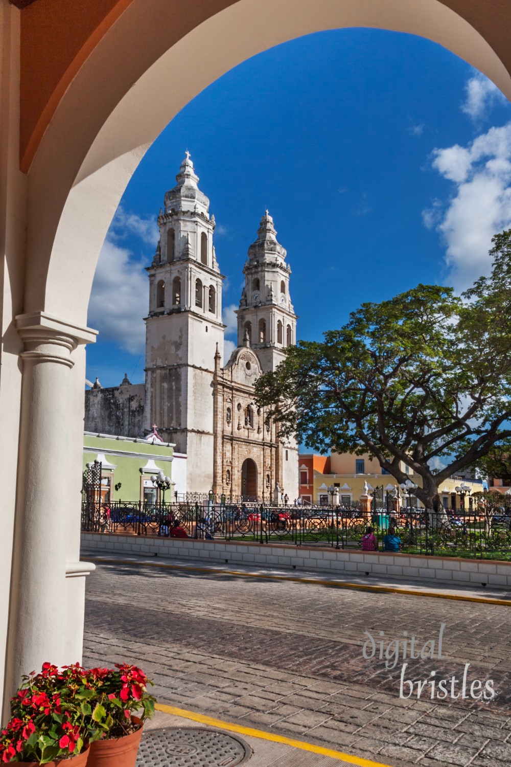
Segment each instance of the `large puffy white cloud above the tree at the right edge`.
M511 227L511 123L490 128L466 147L435 149L433 158L433 167L455 185L437 230L447 245L448 281L464 290L489 274L492 236ZM423 212L426 225L430 214Z

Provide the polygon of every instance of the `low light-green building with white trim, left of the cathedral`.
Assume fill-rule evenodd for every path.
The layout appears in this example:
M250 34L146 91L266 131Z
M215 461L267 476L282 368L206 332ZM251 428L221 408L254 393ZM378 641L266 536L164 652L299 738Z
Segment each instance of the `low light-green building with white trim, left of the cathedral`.
M179 489L177 485L181 484L173 477L173 448L172 443L163 442L156 429L146 439L85 432L83 468L85 470L88 463L100 461L103 502L159 502L162 500L158 497L159 490L151 480L151 476L159 471L172 481L165 501L173 501L174 493Z

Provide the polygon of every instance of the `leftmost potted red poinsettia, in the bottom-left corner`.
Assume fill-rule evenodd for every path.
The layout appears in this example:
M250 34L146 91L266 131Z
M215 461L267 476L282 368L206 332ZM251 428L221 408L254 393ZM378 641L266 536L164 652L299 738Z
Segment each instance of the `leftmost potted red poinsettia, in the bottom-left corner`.
M23 676L11 699L11 719L0 736L2 762L84 767L88 756L87 714L77 704L83 687L79 667L58 671L44 663L41 673Z

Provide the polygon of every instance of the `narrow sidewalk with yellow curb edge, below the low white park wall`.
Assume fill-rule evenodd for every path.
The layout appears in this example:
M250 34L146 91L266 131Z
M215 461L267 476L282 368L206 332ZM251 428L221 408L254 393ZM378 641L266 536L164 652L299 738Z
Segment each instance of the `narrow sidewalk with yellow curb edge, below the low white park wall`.
M270 568L267 565L224 565L218 562L205 563L201 559L143 557L136 554L122 554L118 551L98 554L97 551L82 549L81 558L92 562L109 564L144 565L153 568L166 568L181 571L195 571L208 574L237 575L241 578L261 578L275 581L296 581L330 588L348 588L362 591L404 594L407 596L454 599L459 601L479 602L482 604L502 604L511 607L511 590L507 588L473 587L452 584L449 581L431 581L424 585L418 578L391 578L385 575L379 578L375 574L360 576L357 574L332 574L330 571L308 571L306 569Z

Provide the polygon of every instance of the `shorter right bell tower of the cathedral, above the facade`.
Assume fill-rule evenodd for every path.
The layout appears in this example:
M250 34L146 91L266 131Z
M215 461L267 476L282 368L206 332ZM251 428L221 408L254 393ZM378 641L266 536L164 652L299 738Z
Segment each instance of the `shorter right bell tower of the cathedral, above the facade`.
M237 345L247 334L267 373L284 358L283 349L296 344L296 314L290 297L291 269L286 250L277 242L274 219L260 219L257 240L248 249L245 284L237 310Z

